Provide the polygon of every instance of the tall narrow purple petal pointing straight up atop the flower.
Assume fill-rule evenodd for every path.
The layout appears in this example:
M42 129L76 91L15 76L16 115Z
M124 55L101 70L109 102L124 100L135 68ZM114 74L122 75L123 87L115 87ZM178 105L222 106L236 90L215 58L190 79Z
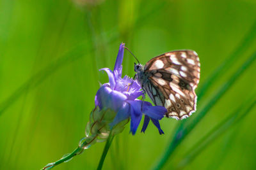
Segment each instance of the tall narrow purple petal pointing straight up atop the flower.
M119 46L119 51L116 57L116 63L114 67L115 78L120 78L122 76L122 62L124 57L124 43Z

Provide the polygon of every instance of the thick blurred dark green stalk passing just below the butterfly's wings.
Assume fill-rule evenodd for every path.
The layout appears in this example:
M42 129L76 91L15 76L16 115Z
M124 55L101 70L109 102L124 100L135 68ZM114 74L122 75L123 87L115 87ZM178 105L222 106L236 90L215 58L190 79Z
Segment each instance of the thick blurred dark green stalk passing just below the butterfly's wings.
M177 128L177 131L175 132L173 139L170 143L170 145L167 147L166 152L164 152L163 156L157 163L157 165L153 169L161 169L163 168L164 164L166 164L167 160L170 159L172 156L172 153L177 148L177 146L180 145L182 140L188 136L189 132L191 132L194 127L204 118L206 113L214 106L214 104L217 103L217 101L227 92L228 89L234 84L234 82L241 76L242 73L253 63L253 61L256 59L256 52L253 53L253 55L247 59L239 69L237 69L236 73L232 74L230 79L223 84L223 86L217 90L215 95L207 102L207 104L204 106L204 108L200 111L198 111L198 116L195 118L193 122L188 123L188 120L184 120L180 123L179 127Z

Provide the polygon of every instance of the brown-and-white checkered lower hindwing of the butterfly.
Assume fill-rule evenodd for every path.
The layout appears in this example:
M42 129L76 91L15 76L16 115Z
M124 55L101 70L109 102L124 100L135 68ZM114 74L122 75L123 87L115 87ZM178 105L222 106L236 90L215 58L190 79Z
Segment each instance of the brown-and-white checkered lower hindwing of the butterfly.
M154 104L164 106L167 109L166 117L176 118L177 120L187 118L196 109L195 93L191 90L191 87L189 89L180 88L179 82L182 82L182 80L178 76L171 76L172 79L167 80L158 76L150 77L149 80L152 84L148 83L148 89L156 89L157 92L153 96L150 91L147 94ZM186 86L186 83L182 82L182 85Z

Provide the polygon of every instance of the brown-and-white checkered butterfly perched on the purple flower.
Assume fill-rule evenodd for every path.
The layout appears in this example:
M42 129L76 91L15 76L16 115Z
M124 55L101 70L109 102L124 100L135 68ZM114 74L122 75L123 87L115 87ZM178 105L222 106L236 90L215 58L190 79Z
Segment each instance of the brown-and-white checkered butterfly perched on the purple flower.
M193 50L166 52L145 66L134 63L135 78L157 106L164 106L166 117L181 120L196 111L195 89L200 79L200 62Z

